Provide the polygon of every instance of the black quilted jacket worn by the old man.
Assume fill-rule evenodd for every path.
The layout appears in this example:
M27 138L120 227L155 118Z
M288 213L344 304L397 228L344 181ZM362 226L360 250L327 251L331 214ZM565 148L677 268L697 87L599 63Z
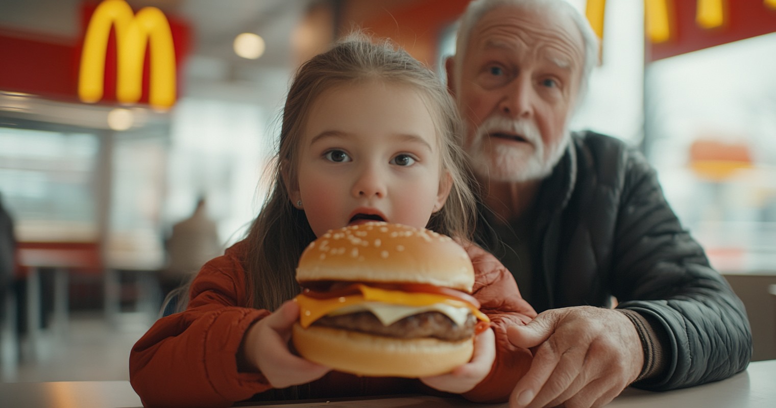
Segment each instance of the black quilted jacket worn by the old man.
M667 374L645 389L726 379L747 365L752 335L743 303L682 229L642 154L597 133L574 133L540 188L535 258L546 298L537 311L565 306L632 309L663 325ZM479 223L480 244L494 234Z

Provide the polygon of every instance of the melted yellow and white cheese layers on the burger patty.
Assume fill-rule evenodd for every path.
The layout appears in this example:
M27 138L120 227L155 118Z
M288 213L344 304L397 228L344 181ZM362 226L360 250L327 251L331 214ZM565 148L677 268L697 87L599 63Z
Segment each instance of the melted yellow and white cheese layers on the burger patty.
M444 295L424 292L401 292L359 285L360 294L340 296L331 299L315 299L310 296L296 296L300 306L300 325L309 327L315 320L327 315L353 313L369 310L386 324L425 311L438 311L449 316L456 323L466 320L471 312L477 319L490 322L488 317L471 303ZM460 315L463 315L461 318ZM390 322L390 323L386 323ZM462 324L462 323L459 323Z

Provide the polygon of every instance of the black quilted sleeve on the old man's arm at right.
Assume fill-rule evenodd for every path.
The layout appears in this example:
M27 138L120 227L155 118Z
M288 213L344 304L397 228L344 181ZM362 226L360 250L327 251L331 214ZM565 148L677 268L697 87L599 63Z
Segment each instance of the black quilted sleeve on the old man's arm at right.
M665 332L660 375L638 382L666 390L726 379L747 368L752 335L740 299L683 230L641 155L627 161L615 237L613 294Z

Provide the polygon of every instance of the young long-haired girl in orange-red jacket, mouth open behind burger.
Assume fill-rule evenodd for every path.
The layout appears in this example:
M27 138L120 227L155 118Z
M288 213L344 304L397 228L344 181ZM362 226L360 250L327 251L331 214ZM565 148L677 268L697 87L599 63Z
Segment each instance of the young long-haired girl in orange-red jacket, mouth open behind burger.
M208 262L189 306L133 347L130 381L146 406L229 406L255 399L331 398L436 389L504 401L531 356L505 329L536 315L509 271L466 245L473 295L494 330L466 365L427 379L362 378L289 350L299 315L295 268L329 229L363 219L471 236L475 211L459 149L459 117L435 75L389 43L359 37L300 67L282 116L275 184L248 237ZM272 312L274 311L274 312ZM494 335L495 334L495 335Z

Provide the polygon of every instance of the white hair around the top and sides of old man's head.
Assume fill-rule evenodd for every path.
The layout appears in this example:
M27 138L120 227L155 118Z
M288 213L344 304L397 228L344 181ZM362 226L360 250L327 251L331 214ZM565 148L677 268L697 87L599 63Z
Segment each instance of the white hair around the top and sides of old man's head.
M544 12L565 12L571 17L576 24L577 29L582 33L582 40L584 42L584 66L582 68L582 76L580 78L579 92L577 93L577 100L575 105L579 105L580 101L584 99L584 95L587 92L587 82L590 79L590 74L593 71L593 67L598 62L598 36L595 35L593 29L590 26L590 22L587 21L582 13L574 8L566 0L474 0L466 7L466 11L460 19L460 26L458 28L458 37L456 39L456 55L454 61L456 63L454 74L456 78L456 89L460 88L463 58L466 53L466 46L469 44L469 36L471 36L472 29L480 22L480 19L492 9L501 6L518 7L521 9L533 9Z

